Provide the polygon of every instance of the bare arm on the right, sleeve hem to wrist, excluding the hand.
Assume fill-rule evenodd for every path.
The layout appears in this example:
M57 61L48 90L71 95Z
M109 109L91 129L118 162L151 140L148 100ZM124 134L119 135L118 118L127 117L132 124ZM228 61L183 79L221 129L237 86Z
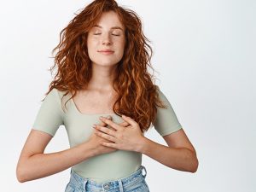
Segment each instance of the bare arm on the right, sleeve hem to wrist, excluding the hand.
M196 172L199 162L195 148L183 129L164 136L164 139L168 147L145 137L138 151L170 168L183 172Z

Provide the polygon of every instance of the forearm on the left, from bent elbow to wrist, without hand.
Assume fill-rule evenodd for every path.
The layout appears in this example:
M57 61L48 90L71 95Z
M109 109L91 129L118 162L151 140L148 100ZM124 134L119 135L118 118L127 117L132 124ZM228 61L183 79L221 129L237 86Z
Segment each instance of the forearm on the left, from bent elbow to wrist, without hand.
M20 162L22 166L17 166L17 177L20 182L47 177L64 171L94 155L95 149L88 143L82 143L60 152L34 154L23 160L24 162Z

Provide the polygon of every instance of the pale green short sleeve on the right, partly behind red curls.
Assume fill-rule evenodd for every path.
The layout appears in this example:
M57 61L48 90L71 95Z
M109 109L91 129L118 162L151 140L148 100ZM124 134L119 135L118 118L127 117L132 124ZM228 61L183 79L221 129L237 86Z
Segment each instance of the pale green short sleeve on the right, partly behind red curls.
M159 89L159 87L158 93L160 96L160 101L163 102L167 109L157 107L156 119L153 125L154 129L160 134L160 136L163 137L182 129L182 125L179 123L171 103L167 100L166 96Z

